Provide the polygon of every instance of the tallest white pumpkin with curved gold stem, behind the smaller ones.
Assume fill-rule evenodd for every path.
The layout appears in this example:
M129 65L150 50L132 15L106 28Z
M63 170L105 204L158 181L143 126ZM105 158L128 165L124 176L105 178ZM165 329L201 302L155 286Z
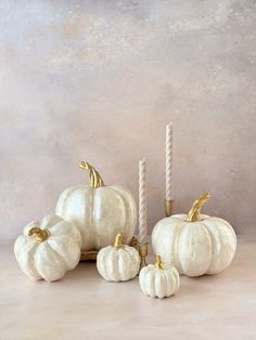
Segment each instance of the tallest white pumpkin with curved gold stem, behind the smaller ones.
M75 223L82 236L82 250L101 249L123 233L128 244L136 230L137 209L131 193L123 186L104 186L99 172L88 162L80 168L90 173L90 185L66 188L56 206L56 214Z

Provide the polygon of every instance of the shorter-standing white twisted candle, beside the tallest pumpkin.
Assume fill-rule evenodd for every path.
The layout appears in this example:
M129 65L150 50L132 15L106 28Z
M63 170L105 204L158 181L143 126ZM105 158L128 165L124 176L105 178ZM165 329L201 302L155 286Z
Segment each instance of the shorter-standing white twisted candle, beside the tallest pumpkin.
M145 158L139 162L139 243L146 243Z

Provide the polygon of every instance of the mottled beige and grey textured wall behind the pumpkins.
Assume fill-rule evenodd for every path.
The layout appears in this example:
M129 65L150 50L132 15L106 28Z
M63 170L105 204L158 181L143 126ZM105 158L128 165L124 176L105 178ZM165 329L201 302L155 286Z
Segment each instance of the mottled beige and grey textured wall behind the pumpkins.
M0 3L0 238L54 210L93 164L163 217L165 125L175 125L176 211L256 231L254 1ZM206 209L205 209L206 210Z

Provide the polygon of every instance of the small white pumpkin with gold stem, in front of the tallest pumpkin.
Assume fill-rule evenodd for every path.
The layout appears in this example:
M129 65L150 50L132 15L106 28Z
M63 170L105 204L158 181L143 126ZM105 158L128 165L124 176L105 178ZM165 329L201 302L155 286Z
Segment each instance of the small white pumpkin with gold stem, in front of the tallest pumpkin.
M110 282L124 282L133 278L140 267L138 251L123 245L123 235L116 235L113 246L101 249L97 257L97 269L101 276Z

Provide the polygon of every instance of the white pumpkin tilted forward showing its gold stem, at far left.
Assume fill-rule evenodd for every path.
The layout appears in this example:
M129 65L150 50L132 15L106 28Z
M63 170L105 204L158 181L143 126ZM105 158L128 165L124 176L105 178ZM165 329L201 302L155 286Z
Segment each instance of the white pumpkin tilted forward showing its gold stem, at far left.
M80 259L78 228L56 215L33 221L14 244L21 270L34 279L53 282L73 270Z

